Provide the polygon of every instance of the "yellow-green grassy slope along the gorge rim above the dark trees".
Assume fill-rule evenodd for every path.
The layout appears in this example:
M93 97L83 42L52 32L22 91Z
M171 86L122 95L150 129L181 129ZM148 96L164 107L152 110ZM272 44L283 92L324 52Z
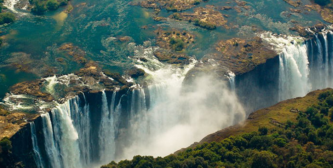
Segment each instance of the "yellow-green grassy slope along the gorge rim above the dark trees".
M277 127L278 124L273 124L271 122L272 120L282 124L286 123L288 120L296 122L297 113L290 112L290 109L293 108L305 111L310 105L318 104L318 95L328 90L333 89L327 88L323 90L315 90L308 93L305 97L284 100L274 106L258 110L252 113L244 123L236 126L229 126L225 129L212 133L203 138L200 143L220 141L230 135L239 135L242 133L257 131L260 126L266 126L268 128ZM191 147L194 146L196 145L194 144Z

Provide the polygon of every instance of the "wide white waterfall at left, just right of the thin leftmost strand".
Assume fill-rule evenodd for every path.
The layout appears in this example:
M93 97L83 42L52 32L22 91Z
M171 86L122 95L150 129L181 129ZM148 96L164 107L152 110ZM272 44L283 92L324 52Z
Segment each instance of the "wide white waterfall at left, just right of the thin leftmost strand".
M48 168L81 167L78 133L71 120L71 112L76 111L73 102L77 100L73 98L52 109L52 121L50 113L41 115Z

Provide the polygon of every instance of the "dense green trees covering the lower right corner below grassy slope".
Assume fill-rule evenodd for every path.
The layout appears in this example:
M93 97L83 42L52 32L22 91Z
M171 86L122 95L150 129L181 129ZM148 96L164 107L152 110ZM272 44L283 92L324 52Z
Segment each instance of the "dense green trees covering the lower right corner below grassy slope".
M203 143L177 155L135 156L101 168L333 168L333 93L317 94L313 105L308 104L313 96L279 104L298 108L307 104L304 111L289 112L297 116L293 121L260 126L258 131Z

